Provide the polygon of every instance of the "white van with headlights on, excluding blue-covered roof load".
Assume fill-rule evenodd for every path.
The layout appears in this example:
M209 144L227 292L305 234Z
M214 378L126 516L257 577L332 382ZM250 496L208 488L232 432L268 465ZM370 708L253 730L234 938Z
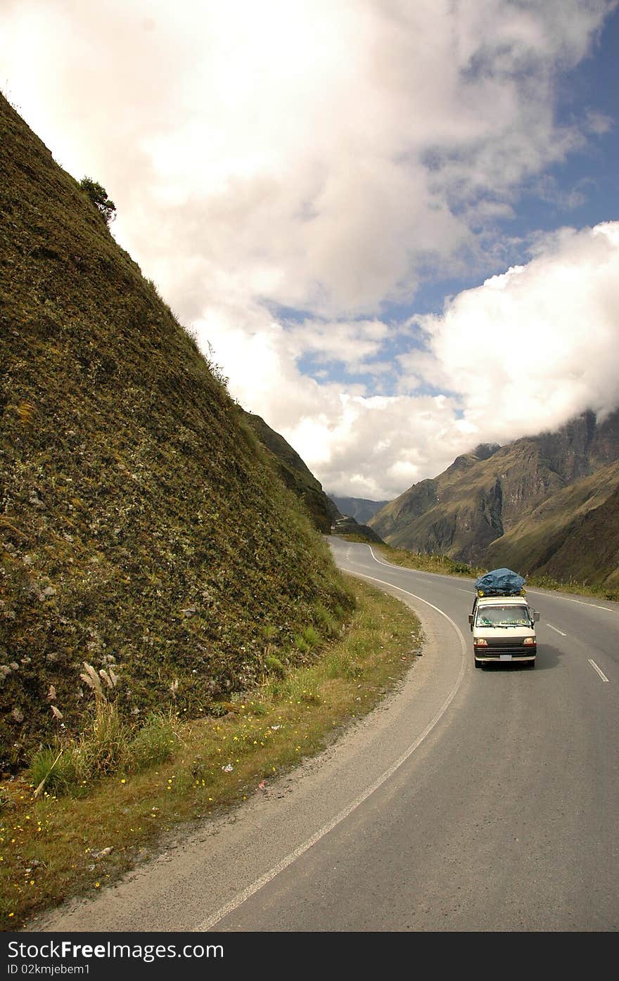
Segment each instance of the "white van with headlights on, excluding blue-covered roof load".
M475 667L511 661L534 668L539 620L524 595L477 597L469 613Z

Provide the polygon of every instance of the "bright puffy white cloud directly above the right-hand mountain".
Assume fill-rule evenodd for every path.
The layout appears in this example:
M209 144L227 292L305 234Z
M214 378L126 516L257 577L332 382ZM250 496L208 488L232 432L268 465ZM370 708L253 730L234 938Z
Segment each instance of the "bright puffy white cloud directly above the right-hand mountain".
M505 441L619 403L619 223L540 238L526 266L422 317L404 368L458 393L463 422Z

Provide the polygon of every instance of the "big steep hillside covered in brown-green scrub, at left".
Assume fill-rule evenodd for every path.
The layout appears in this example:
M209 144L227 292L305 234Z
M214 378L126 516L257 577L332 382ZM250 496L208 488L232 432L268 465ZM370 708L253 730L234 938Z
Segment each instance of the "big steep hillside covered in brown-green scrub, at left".
M96 207L0 97L0 771L75 731L190 717L350 600L272 457ZM323 609L321 610L321 607Z

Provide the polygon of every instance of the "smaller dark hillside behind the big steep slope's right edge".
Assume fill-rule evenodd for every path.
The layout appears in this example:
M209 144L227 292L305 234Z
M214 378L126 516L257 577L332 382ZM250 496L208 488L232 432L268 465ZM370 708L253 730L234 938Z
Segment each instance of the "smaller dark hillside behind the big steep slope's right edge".
M260 416L251 412L246 412L245 416L258 439L274 454L285 486L303 502L318 531L328 535L335 518L339 517L334 501L327 496L320 481L316 480L311 470L283 436L267 426Z

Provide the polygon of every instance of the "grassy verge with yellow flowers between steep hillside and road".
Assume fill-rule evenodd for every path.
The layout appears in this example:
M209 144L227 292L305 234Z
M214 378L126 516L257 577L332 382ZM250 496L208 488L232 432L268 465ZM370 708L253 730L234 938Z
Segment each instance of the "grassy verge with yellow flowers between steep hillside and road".
M124 768L65 795L59 785L36 794L40 773L2 784L0 927L19 930L34 912L100 889L156 850L164 832L261 793L369 712L414 662L421 630L399 600L349 582L355 611L314 663L271 674L222 704L220 717L153 717L159 763L140 770L126 756Z

